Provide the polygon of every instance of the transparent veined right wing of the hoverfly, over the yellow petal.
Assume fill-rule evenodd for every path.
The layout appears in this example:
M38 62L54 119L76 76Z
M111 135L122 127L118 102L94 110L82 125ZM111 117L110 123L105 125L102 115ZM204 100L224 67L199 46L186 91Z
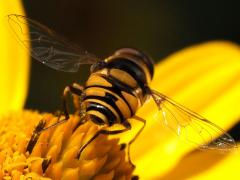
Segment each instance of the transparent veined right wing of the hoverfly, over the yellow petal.
M200 149L229 151L237 148L234 139L211 121L157 91L151 92L164 124L181 139Z

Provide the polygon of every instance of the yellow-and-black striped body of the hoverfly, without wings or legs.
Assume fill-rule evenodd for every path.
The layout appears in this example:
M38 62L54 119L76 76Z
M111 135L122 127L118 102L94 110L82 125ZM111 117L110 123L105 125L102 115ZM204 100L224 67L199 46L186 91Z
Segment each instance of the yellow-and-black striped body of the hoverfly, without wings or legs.
M105 66L92 72L86 83L83 103L86 114L97 124L123 123L146 99L145 85L152 77L148 66L124 52L104 60Z

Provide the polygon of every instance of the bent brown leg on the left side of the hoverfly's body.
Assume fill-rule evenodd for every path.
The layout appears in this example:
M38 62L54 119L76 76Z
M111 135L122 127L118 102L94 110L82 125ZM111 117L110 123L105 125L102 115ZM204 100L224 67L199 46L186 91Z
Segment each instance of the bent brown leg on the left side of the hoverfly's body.
M83 90L83 88L77 84L73 84L72 86L66 86L63 91L63 111L61 111L61 113L59 114L58 121L48 127L43 128L41 131L45 131L47 129L56 127L64 122L66 122L69 119L67 96L69 93L71 93L72 95L75 95L75 96L81 96L82 90ZM60 120L61 115L64 115L64 118Z

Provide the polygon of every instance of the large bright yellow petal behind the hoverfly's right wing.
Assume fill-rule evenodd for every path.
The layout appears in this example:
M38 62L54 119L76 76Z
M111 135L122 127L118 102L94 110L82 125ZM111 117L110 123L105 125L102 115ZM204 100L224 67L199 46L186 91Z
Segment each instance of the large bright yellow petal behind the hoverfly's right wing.
M230 42L209 42L184 49L156 66L151 88L198 112L227 130L240 117L240 49ZM193 146L179 141L156 122L151 100L137 113L147 127L131 147L136 174L151 179L168 172ZM140 126L138 126L140 127ZM126 140L136 128L123 137ZM191 134L189 134L191 136Z

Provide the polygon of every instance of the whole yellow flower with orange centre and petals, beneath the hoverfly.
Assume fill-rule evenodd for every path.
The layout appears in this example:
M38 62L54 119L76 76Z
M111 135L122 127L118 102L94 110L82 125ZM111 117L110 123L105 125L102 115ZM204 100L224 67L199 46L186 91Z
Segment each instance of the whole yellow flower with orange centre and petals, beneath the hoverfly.
M19 1L13 4L2 3L0 15L23 14ZM0 119L1 179L130 179L133 173L141 179L240 178L236 173L239 154L200 152L180 141L160 125L153 100L137 112L147 120L147 126L131 146L134 172L121 145L140 127L133 119L133 130L118 136L120 142L116 137L100 136L78 161L79 147L99 127L87 122L76 128L79 117L73 115L65 124L39 135L34 132L36 126L52 124L56 117L32 111L9 113L24 104L29 58L2 24L0 33L4 37L0 43L4 50L0 55L0 83L4 87L0 90L0 113L8 113ZM193 46L156 65L151 88L228 130L240 117L239 60L239 46L230 42Z

